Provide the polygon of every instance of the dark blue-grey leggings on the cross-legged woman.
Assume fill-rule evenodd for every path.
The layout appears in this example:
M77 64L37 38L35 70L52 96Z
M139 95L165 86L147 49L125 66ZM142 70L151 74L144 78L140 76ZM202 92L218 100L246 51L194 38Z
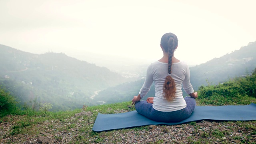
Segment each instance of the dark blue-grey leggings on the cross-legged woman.
M145 100L135 104L136 111L147 118L158 122L180 122L188 118L196 107L196 100L190 96L184 98L186 108L173 112L161 112L153 108L153 104L147 103Z

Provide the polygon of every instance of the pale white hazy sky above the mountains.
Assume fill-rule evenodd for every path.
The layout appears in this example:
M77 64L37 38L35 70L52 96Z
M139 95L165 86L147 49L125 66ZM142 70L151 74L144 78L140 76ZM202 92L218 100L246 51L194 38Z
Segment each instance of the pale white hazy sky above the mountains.
M160 38L173 32L175 56L200 64L256 41L255 6L255 0L0 0L0 44L96 64L148 62L162 57Z

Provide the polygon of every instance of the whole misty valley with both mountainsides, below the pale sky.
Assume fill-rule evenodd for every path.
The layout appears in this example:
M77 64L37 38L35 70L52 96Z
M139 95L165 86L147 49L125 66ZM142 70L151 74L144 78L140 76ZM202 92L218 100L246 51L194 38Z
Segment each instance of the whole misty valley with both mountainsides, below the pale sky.
M132 100L144 83L148 65L122 66L117 73L64 53L32 54L0 45L0 86L24 108L38 109L40 103L50 103L52 110L73 110ZM202 85L250 75L255 68L256 42L250 42L240 50L190 67L191 84L196 91ZM154 84L146 98L150 96L154 96Z

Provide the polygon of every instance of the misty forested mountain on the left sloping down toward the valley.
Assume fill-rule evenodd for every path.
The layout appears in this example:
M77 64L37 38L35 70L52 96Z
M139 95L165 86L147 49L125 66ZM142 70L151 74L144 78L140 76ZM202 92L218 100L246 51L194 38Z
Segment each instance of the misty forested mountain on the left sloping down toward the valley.
M21 104L48 102L54 110L90 106L95 91L126 81L105 67L63 53L31 54L0 45L0 85Z

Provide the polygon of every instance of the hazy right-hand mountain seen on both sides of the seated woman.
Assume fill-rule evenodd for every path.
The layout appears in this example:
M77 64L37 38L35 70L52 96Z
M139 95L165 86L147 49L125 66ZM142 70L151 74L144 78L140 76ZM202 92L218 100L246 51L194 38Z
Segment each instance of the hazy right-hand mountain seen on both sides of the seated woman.
M226 54L220 58L214 58L204 64L190 67L190 81L195 91L201 85L218 84L226 82L230 78L250 74L256 68L256 41L250 42L240 50ZM206 81L208 80L208 82ZM94 97L98 104L126 102L137 96L144 79L136 82L127 82L118 86L102 90ZM184 96L187 94L183 90ZM154 84L150 92L143 98L154 96ZM104 101L104 102L103 102Z

